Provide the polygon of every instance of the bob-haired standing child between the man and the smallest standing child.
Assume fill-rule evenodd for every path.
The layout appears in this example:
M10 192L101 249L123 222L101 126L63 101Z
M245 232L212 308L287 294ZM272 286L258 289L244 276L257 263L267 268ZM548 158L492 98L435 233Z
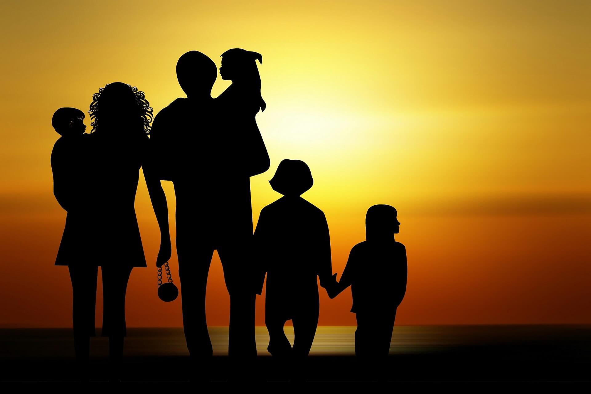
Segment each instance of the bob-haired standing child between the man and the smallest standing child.
M262 265L258 294L262 292L267 272L267 349L275 357L301 359L310 353L318 325L316 277L320 277L324 288L336 286L330 260L329 227L323 211L300 197L313 184L306 163L281 161L269 183L284 197L261 210L254 235ZM287 320L293 321L293 349L283 331Z

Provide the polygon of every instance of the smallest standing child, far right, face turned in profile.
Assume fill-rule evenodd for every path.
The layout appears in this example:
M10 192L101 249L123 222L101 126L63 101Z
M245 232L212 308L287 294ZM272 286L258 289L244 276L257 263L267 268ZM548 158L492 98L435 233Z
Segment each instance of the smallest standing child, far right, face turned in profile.
M400 231L397 211L374 205L365 217L366 241L353 246L349 260L330 298L351 286L356 314L355 354L372 359L388 356L396 308L407 285L406 249L395 242Z

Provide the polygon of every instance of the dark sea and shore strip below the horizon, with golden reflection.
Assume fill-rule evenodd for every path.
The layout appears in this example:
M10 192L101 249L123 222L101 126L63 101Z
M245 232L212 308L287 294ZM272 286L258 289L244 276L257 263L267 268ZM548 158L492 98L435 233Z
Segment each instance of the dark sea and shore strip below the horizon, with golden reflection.
M287 327L286 327L287 328ZM193 364L182 330L129 329L121 380L589 380L591 327L583 325L396 327L385 365L358 362L355 327L320 327L307 363L286 366L267 356L231 365L227 328L212 328L216 355ZM287 330L286 330L287 331ZM99 331L100 332L100 331ZM2 380L77 380L70 330L0 329ZM226 341L226 342L224 342ZM108 380L106 338L94 338L90 380Z

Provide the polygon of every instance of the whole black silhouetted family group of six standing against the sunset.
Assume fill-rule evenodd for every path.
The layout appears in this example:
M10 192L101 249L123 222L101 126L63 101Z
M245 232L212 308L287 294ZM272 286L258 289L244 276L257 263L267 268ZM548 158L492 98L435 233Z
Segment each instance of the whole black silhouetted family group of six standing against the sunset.
M244 366L256 357L255 300L265 275L265 325L273 357L304 360L309 354L319 320L317 277L330 298L351 286L356 355L388 355L407 282L405 248L394 240L400 222L393 207L369 208L366 240L351 250L339 282L332 272L326 217L300 196L313 185L303 161L280 162L269 183L283 197L262 209L253 229L249 178L270 165L255 120L266 108L257 60L262 63L261 54L239 48L223 53L219 73L232 84L214 99L216 64L203 53L187 52L176 67L187 97L174 100L155 118L144 93L121 82L93 95L90 133L82 111L54 113L52 125L61 135L51 154L54 195L67 211L56 265L67 265L72 280L80 365L87 363L95 335L99 266L102 336L109 337L112 364L122 358L128 279L134 267L147 266L134 209L140 168L160 227L158 267L171 256L161 180L174 184L178 275L191 360L203 363L212 357L205 296L214 250L230 296L230 360ZM293 347L284 333L288 320L294 326Z

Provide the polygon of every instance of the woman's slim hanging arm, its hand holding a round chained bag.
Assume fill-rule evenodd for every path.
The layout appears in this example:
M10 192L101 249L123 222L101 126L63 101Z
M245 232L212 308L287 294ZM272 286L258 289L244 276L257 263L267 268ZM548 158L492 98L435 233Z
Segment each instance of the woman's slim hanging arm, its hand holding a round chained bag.
M160 183L155 168L151 163L150 152L148 149L144 152L144 161L142 162L142 169L144 170L144 178L148 187L148 194L150 194L150 201L156 214L158 227L160 227L160 250L158 251L158 258L156 259L156 266L160 267L170 259L172 254L172 246L170 242L170 229L168 228L168 204L166 195Z

